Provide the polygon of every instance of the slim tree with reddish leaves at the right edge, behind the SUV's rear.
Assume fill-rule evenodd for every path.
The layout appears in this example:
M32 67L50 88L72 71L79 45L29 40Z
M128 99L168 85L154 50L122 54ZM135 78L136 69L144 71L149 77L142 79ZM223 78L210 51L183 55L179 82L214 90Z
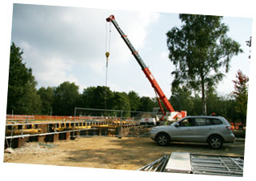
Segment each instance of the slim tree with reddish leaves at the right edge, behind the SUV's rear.
M235 98L235 112L238 113L239 119L242 122L242 126L246 124L246 112L248 101L248 81L249 77L246 77L241 70L238 70L236 74L236 80L234 80L234 91L231 93Z

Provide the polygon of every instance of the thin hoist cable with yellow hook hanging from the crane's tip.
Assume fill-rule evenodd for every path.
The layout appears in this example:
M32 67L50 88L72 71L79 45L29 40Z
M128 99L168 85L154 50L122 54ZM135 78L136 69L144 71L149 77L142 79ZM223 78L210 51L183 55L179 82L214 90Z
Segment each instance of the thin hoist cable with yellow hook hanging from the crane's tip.
M109 33L109 34L108 34ZM108 36L109 35L109 36ZM111 22L110 22L110 30L108 31L108 22L106 22L106 81L105 81L105 109L106 109L106 89L107 89L107 68L108 61L110 57L110 37L111 37Z

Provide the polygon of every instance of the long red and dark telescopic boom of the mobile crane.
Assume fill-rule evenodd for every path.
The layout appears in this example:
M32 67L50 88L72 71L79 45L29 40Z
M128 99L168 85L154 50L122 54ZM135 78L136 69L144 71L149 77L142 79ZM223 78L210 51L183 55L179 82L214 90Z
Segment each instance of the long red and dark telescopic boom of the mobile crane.
M150 72L150 69L146 66L144 61L142 60L142 57L139 56L138 52L134 49L134 46L130 43L128 37L125 33L122 32L121 28L118 26L118 22L116 22L114 15L110 15L109 18L106 18L106 22L112 22L114 27L118 30L118 33L121 35L123 41L125 41L126 45L130 49L131 53L134 55L136 61L141 66L143 73L145 73L147 79L150 81L152 87L157 92L159 98L162 100L162 103L165 105L168 112L174 112L174 108L170 104L169 100L167 99L164 92L162 92L162 89L158 85L158 82L155 80L153 74ZM160 105L160 108L162 108L162 105Z

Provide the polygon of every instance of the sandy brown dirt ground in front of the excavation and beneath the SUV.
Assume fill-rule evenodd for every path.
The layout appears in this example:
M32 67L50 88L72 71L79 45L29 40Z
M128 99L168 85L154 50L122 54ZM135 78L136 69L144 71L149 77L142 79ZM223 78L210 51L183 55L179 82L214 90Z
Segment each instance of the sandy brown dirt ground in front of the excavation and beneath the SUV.
M95 136L56 143L26 143L25 147L14 149L14 153L4 153L4 162L137 170L162 157L165 152L243 156L244 148L244 140L224 144L223 148L213 150L207 144L172 143L167 147L159 147L145 137L118 139Z

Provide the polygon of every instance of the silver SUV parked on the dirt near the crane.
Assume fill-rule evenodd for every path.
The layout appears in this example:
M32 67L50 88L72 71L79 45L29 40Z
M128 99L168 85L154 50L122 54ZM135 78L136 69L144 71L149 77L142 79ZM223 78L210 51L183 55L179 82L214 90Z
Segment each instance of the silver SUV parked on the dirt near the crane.
M208 143L216 149L235 140L230 123L222 116L186 116L171 125L152 128L150 138L161 146L183 141Z

